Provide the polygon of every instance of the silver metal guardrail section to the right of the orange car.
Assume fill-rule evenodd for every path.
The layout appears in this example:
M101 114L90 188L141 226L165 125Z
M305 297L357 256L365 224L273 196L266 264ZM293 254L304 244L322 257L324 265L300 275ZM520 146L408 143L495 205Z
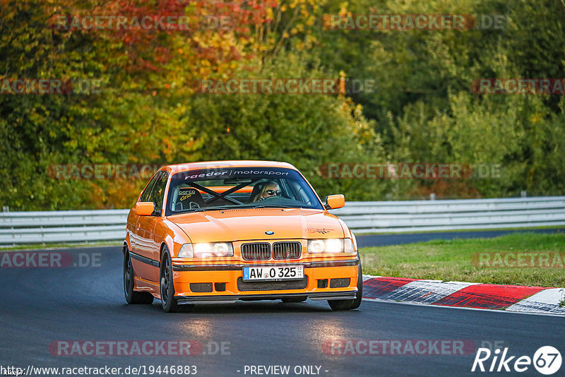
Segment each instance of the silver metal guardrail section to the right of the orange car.
M350 202L331 212L356 234L549 227L565 225L565 196Z

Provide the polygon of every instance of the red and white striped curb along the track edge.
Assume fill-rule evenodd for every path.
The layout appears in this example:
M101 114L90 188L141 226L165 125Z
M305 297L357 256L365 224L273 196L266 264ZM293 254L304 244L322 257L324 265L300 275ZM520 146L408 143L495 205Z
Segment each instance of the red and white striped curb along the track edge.
M564 288L363 275L363 298L565 316Z

